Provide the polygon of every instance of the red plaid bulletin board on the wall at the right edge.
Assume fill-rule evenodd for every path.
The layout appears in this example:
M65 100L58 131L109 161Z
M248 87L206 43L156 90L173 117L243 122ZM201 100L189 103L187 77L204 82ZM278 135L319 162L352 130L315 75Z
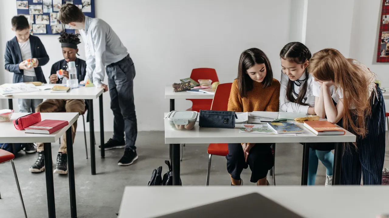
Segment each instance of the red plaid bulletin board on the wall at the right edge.
M377 62L389 62L389 0L382 0Z

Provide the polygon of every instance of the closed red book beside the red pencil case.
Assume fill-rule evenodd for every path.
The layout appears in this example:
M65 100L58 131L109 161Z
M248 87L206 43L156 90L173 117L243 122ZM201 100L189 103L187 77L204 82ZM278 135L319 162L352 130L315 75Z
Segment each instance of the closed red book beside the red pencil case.
M25 128L26 133L51 134L69 125L68 121L45 119Z

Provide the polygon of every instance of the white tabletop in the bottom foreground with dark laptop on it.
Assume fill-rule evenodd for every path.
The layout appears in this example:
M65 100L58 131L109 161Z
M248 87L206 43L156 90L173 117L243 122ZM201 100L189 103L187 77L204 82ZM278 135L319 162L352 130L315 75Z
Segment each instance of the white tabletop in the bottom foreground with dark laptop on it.
M375 218L389 213L388 186L128 186L124 189L118 218L168 215L253 192L307 218Z

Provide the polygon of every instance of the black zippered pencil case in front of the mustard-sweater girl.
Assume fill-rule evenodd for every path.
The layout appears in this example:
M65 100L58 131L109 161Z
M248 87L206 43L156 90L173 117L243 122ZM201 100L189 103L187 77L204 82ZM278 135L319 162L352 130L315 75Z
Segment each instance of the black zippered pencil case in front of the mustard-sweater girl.
M200 110L199 116L200 127L235 128L235 119L238 119L234 111Z

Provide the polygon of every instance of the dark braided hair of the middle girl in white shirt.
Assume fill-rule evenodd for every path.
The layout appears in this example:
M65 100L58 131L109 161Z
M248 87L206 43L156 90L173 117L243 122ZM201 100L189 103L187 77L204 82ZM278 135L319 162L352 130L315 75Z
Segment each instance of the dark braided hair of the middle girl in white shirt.
M284 60L287 60L289 62L294 62L296 64L304 64L305 61L309 61L311 59L312 54L301 42L289 42L287 43L284 48L282 48L280 52L280 57ZM294 81L288 80L288 84L286 86L286 98L294 103L309 106L309 104L304 103L303 99L305 97L305 93L307 92L307 86L308 86L308 67L305 68L305 76L307 80L304 81L303 87L301 87L300 92L298 93L297 99L294 99L293 96L293 87L294 87Z

